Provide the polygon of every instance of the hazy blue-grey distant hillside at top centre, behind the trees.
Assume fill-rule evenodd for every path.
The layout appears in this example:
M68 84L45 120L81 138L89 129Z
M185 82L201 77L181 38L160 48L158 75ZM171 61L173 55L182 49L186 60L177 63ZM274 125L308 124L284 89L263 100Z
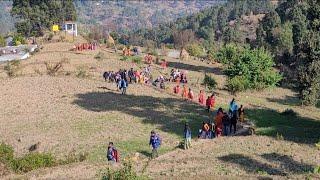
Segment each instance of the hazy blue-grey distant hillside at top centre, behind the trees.
M224 1L75 1L81 24L100 24L118 32L151 28L221 3Z

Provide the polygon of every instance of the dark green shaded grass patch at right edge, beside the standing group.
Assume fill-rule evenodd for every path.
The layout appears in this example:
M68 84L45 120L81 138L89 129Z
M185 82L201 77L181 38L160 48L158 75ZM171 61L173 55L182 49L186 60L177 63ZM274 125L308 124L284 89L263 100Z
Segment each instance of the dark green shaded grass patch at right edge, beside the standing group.
M260 135L278 137L298 143L313 144L320 137L320 121L300 117L290 110L284 113L271 109L248 109L248 119L255 122Z

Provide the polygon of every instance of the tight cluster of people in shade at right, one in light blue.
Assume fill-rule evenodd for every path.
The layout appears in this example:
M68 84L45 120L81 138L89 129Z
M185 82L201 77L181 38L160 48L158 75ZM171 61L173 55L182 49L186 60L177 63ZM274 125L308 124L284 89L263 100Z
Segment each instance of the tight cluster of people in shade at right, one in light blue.
M229 111L224 112L220 107L215 116L214 122L202 124L202 128L199 130L199 138L207 139L220 136L228 136L232 132L237 131L237 122L244 122L244 108L243 105L238 108L235 99L229 104ZM232 131L233 130L233 131Z

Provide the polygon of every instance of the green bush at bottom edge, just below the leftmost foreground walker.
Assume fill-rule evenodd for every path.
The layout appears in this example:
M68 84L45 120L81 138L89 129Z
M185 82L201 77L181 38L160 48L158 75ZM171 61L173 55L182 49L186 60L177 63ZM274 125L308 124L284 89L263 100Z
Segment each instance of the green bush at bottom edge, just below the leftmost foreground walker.
M107 172L102 173L103 180L142 180L147 179L142 176L138 176L133 170L132 164L130 162L125 162L124 167L119 170L111 170L108 168Z

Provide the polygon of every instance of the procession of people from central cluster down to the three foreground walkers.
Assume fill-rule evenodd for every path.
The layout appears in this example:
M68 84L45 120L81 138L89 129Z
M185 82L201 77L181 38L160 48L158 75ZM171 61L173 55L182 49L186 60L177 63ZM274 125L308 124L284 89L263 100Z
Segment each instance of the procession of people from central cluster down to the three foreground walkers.
M214 93L206 96L204 90L200 90L197 97L193 90L187 87L187 73L179 69L172 69L169 78L162 75L157 77L154 81L152 79L151 65L147 65L143 70L120 69L118 72L108 71L103 74L105 81L115 82L117 88L122 90L122 94L126 94L126 89L129 83L143 83L166 89L166 82L176 82L173 88L173 93L181 95L185 100L197 102L199 105L205 107L207 112L213 112L215 109L216 96ZM181 87L180 87L181 86ZM228 110L221 107L217 109L214 119L207 122L203 121L198 132L199 139L213 139L220 136L230 136L237 132L237 123L244 122L244 107L238 106L235 99L229 103ZM184 126L184 149L191 147L192 132L188 123ZM154 130L151 131L149 145L152 147L152 158L158 157L158 149L162 144L160 135ZM107 159L112 162L119 162L118 150L110 142L107 151Z

